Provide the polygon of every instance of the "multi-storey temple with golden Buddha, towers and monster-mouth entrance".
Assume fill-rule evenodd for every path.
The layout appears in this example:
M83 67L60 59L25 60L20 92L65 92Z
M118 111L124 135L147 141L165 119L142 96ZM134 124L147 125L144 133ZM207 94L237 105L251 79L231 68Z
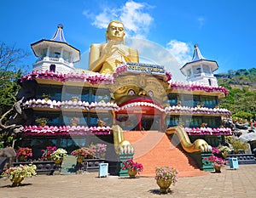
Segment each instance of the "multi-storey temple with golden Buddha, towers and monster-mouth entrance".
M113 31L119 32L113 37ZM228 91L212 74L217 62L195 46L193 59L180 69L188 82L173 82L163 65L140 63L122 31L122 23L112 21L108 42L90 47L90 71L74 67L80 52L65 40L62 25L51 39L32 43L38 59L21 77L18 94L26 114L22 145L32 147L36 158L48 145L70 153L104 143L109 173L119 175L127 157L143 163L144 176L160 166L176 167L180 176L212 170L206 160L212 146L232 135L222 123L230 110L218 107Z

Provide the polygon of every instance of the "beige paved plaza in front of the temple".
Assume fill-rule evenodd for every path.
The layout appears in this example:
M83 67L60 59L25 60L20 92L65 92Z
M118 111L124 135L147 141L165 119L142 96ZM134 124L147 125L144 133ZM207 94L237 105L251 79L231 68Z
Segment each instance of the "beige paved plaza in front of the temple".
M98 178L98 173L79 175L39 175L26 178L19 187L0 178L1 198L84 198L84 197L256 197L256 165L240 165L222 173L178 178L172 192L160 194L154 178Z

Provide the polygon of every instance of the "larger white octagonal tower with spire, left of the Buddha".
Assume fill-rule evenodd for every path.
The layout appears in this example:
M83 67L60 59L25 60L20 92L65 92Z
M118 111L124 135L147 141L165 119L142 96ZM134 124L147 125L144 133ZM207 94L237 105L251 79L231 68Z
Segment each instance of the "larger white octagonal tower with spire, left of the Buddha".
M73 72L73 63L80 60L80 51L67 44L61 24L50 40L42 39L32 43L31 47L38 57L32 65L33 71L58 71L66 74Z

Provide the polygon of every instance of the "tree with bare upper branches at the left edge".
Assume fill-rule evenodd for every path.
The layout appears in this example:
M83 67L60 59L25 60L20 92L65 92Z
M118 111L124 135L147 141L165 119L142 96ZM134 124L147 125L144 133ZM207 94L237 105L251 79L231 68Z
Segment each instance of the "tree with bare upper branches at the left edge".
M5 143L11 139L10 129L15 128L9 126L8 118L13 114L15 95L20 89L21 68L26 68L22 60L28 56L23 49L0 42L0 141Z

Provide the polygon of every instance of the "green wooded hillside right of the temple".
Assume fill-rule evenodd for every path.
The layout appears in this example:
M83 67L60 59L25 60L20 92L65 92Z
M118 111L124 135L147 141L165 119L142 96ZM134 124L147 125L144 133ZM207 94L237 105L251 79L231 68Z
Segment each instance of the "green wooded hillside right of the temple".
M229 95L219 103L232 112L233 118L256 120L256 68L228 71L215 75L218 85L229 89Z

